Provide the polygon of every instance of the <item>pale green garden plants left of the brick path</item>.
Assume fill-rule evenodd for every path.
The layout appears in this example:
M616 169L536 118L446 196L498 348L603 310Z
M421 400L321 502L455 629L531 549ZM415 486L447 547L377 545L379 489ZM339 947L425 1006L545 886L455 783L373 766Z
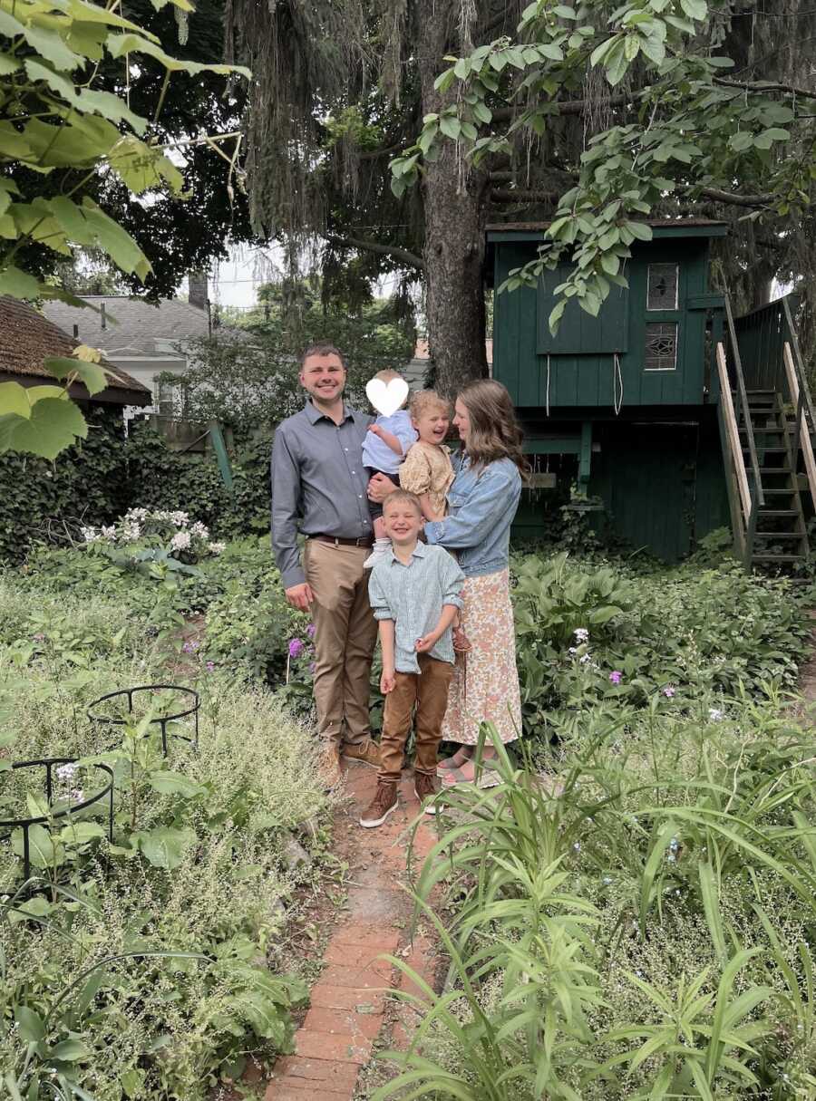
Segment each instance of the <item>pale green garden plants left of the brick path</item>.
M176 657L173 632L159 630L173 620L156 606L155 581L141 579L154 607L140 612L132 578L115 586L106 575L121 579L121 570L70 554L99 567L88 591L72 596L56 571L46 586L30 575L23 585L0 580L0 745L12 759L79 759L57 777L53 809L78 802L77 791L87 797L93 763L108 763L115 837L109 843L100 808L43 829L33 894L15 890L18 839L0 843L4 1086L32 1101L204 1101L249 1054L291 1045L291 1010L306 988L280 946L297 874L315 869L290 871L284 849L290 831L326 806L314 743L270 695L248 687L248 671L208 669L186 644ZM220 559L202 568L210 563ZM106 582L109 596L99 591ZM197 752L171 738L162 756L150 719L176 709L172 691L137 697L119 737L86 719L106 691L191 676L203 699ZM40 800L41 777L3 776L0 817Z

